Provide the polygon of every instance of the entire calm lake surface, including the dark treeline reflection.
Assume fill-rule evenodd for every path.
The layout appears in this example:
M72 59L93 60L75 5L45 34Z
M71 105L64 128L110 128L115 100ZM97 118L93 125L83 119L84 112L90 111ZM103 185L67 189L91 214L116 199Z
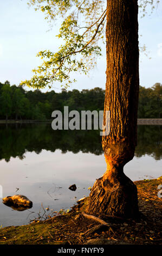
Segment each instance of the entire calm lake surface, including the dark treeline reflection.
M99 131L54 131L50 124L0 125L0 143L3 197L23 194L33 202L33 208L20 212L0 199L0 227L70 209L88 196L88 187L106 170ZM133 181L158 178L161 159L162 126L138 126L138 146L125 174ZM72 184L76 191L68 189Z

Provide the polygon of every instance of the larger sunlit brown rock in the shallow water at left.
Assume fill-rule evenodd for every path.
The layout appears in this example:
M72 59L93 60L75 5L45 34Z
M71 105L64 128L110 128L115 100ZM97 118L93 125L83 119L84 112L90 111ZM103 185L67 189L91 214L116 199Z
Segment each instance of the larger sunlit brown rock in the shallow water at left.
M27 197L22 194L15 194L14 196L4 197L3 204L11 207L16 211L24 211L32 208L33 202L31 202Z

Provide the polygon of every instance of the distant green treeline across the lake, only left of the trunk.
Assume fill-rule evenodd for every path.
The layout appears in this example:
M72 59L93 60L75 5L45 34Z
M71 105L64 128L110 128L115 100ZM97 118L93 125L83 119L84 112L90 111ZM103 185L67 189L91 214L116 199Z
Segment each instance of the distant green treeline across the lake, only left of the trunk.
M9 83L9 82L8 82ZM4 95L5 90L5 95ZM4 100L3 100L4 99ZM8 99L8 100L7 100ZM9 101L10 99L10 101ZM10 119L50 120L54 110L63 112L64 106L71 110L103 110L105 91L101 88L91 90L62 89L61 93L54 90L42 93L25 91L22 86L10 86L0 83L0 119L4 119L7 113L7 105L10 104L8 116Z

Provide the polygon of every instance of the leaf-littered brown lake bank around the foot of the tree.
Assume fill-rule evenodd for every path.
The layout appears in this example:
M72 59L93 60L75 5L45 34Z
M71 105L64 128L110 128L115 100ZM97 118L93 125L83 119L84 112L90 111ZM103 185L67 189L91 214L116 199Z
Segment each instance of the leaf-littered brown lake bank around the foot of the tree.
M122 220L108 217L109 227L87 218L82 213L86 209L88 197L75 205L70 212L50 217L46 221L35 220L21 226L0 229L0 244L156 244L161 239L161 198L157 189L162 184L158 179L135 181L138 188L139 220Z

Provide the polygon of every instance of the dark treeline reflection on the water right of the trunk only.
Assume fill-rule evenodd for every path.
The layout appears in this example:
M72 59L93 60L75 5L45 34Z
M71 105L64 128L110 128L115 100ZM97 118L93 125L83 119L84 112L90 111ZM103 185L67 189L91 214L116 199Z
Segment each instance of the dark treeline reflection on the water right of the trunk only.
M162 158L162 126L160 125L139 125L138 145L135 156L151 155L155 160Z

